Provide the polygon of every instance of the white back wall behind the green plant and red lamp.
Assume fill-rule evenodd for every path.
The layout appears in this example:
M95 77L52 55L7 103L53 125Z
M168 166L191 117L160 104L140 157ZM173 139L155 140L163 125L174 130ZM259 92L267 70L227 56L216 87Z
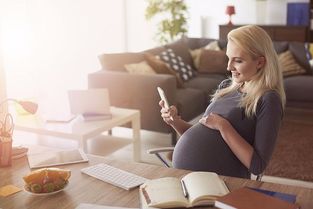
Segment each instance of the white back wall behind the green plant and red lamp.
M286 24L288 2L309 0L186 0L189 8L188 36L218 38L218 26L228 22L227 5L234 5L234 24ZM156 20L144 20L145 0L127 0L128 50L140 51L157 45L153 40Z

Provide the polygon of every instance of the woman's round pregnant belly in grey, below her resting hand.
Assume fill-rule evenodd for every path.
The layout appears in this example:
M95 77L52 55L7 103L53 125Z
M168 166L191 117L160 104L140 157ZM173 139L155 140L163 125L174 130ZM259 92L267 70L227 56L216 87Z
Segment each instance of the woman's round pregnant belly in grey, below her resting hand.
M178 140L173 154L173 166L231 176L237 176L233 172L241 173L239 170L243 168L219 131L200 123L189 128ZM246 169L244 170L246 173Z

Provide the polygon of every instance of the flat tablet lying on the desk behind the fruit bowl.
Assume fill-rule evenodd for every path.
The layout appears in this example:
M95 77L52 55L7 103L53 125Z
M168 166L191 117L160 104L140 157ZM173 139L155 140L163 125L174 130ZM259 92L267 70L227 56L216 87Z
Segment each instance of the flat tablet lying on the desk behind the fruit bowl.
M30 168L88 162L86 154L80 149L31 154L27 158Z

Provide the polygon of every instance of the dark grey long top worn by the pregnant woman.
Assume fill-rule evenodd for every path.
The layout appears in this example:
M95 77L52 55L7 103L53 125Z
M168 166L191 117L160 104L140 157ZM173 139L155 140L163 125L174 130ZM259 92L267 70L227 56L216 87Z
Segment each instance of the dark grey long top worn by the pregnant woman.
M275 91L268 91L260 98L256 115L247 118L244 109L239 107L241 96L242 93L235 91L219 98L207 107L204 115L213 112L226 118L253 146L250 168L239 161L219 131L200 123L189 128L178 140L173 154L175 168L242 178L264 171L275 147L283 115L282 103Z

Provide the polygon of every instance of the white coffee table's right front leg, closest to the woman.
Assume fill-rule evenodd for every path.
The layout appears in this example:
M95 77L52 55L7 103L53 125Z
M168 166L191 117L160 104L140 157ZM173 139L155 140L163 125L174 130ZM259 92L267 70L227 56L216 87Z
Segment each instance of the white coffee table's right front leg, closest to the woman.
M140 142L140 112L132 119L133 128L133 159L136 162L141 161L141 142Z

